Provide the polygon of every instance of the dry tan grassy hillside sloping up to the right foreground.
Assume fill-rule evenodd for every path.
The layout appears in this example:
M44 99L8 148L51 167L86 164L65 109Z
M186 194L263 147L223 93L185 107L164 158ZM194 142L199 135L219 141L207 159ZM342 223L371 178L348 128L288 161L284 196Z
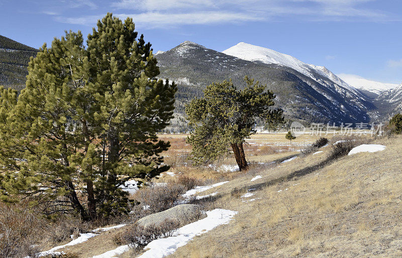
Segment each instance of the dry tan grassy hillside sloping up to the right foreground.
M375 143L386 150L323 166L327 147L203 193L219 192L208 205L239 214L172 256L401 256L402 138Z

